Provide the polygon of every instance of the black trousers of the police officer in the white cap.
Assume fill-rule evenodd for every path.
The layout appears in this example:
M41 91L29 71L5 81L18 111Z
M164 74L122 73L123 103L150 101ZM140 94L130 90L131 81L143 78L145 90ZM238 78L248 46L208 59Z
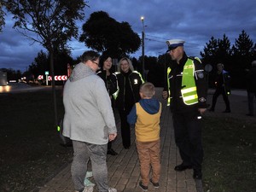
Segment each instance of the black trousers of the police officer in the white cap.
M201 114L195 111L173 113L175 141L183 165L201 170L203 149L201 144Z

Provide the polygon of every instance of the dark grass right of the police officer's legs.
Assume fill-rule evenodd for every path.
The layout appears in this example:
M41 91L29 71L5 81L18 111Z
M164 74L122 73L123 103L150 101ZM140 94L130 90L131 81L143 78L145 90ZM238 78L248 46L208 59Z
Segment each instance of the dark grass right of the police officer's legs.
M203 131L204 190L253 192L256 189L255 120L206 117Z

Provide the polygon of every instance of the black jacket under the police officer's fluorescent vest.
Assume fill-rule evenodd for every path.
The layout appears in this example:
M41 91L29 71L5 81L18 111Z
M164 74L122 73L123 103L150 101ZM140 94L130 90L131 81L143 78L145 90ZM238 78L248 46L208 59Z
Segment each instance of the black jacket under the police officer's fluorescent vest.
M195 85L197 89L198 103L193 105L186 105L183 102L183 97L181 94L182 90L182 79L183 79L183 67L188 59L192 59L195 64ZM171 89L171 111L172 113L183 113L189 111L195 111L198 108L207 108L207 78L204 72L204 67L200 61L195 58L188 57L185 53L183 58L177 64L176 61L172 61L170 65L172 68L169 74L168 80ZM167 84L167 82L166 82ZM167 90L167 86L165 89ZM168 91L168 90L167 90Z

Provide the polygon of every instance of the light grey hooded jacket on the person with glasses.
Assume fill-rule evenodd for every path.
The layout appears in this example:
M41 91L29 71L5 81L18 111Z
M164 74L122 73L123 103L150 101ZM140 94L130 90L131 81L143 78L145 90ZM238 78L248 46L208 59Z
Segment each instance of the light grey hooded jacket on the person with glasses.
M84 63L79 63L67 79L63 102L63 136L80 142L106 144L108 134L117 132L105 84Z

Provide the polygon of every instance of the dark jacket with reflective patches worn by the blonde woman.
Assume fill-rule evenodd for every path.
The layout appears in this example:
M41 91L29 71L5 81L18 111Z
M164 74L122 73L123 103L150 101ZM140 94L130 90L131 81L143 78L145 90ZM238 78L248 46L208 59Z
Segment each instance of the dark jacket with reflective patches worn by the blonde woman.
M139 89L143 84L140 73L116 73L118 79L118 95L116 98L116 106L121 110L130 112L132 106L140 100Z

